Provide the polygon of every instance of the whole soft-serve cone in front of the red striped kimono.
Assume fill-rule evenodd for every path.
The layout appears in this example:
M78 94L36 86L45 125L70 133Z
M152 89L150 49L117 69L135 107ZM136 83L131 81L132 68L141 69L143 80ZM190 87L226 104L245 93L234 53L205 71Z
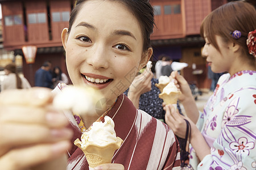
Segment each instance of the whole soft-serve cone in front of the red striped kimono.
M84 152L90 168L111 163L114 151L123 143L116 137L114 121L109 116L104 117L104 122L94 122L88 131L81 136L81 141L76 139L74 144Z

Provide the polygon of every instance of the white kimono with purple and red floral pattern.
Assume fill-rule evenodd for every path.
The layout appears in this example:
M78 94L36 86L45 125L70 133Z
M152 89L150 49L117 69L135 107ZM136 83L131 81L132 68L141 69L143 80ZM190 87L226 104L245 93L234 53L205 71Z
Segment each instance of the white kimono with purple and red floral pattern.
M199 163L191 147L193 168L256 169L256 71L222 75L197 128L210 154Z

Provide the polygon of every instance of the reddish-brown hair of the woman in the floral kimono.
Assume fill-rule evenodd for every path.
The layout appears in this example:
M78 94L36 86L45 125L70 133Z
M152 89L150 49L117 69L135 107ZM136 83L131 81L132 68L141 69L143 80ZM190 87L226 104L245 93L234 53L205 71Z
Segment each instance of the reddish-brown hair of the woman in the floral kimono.
M242 46L245 54L252 58L246 45L247 35L256 28L256 11L254 6L247 2L233 1L226 3L213 10L203 20L200 27L202 37L207 37L208 41L220 51L215 36L221 36L226 42L231 41ZM240 39L234 39L233 31L238 30L242 36ZM253 57L254 59L254 57Z

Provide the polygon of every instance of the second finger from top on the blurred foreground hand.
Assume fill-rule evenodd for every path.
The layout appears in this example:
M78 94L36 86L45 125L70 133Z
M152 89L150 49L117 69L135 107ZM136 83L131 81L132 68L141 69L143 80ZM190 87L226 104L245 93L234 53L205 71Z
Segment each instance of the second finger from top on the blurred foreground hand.
M50 128L67 126L69 121L64 113L52 107L36 108L2 105L0 107L0 125L17 124L42 124Z

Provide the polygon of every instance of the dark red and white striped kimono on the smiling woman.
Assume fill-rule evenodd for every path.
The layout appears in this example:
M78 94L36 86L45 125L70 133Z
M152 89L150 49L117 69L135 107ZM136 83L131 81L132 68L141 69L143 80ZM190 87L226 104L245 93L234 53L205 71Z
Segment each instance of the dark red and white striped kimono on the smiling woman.
M65 114L75 133L73 142L81 137L81 130L72 113ZM112 163L122 164L125 169L180 169L179 142L166 124L136 109L123 94L106 115L112 117L115 133L123 139ZM73 145L69 156L67 169L89 169L80 148Z

